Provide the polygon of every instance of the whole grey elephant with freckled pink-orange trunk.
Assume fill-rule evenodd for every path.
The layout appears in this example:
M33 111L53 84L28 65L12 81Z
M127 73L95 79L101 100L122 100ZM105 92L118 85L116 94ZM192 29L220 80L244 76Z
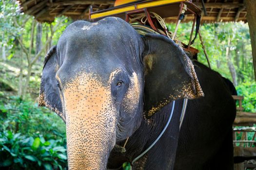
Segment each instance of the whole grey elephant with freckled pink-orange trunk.
M73 22L48 51L39 106L66 124L70 170L133 162L170 118L133 170L231 170L236 106L224 86L173 40L106 17ZM179 129L183 99L189 101Z

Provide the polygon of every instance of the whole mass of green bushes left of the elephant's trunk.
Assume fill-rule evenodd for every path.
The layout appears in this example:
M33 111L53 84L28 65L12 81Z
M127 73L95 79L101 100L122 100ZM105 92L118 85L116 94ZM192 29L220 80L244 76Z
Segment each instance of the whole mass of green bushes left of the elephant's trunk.
M0 167L65 169L65 125L55 113L0 93L0 124Z

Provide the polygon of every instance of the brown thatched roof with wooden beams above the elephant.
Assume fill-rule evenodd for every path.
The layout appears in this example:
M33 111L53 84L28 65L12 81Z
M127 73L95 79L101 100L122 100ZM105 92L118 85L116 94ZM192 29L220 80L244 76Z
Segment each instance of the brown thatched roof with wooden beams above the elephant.
M68 16L73 19L88 19L90 5L94 4L94 11L111 8L115 0L17 0L20 9L25 14L35 16L41 22L52 22L55 17ZM201 7L200 0L193 0ZM243 0L204 0L207 16L202 17L202 22L217 21L245 21L246 8ZM184 21L194 19L191 15ZM176 17L167 18L175 22Z

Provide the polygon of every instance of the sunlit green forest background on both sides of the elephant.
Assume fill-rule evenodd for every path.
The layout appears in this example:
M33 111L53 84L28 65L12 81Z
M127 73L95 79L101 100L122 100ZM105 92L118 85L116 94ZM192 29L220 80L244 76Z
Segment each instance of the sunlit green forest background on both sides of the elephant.
M65 124L38 107L38 95L44 55L72 22L59 16L52 23L39 23L20 13L14 0L0 0L0 167L66 169ZM187 43L191 28L192 23L180 24L177 38ZM248 24L202 24L200 32L212 69L234 83L238 95L244 96L245 111L256 112ZM199 38L193 47L207 65Z

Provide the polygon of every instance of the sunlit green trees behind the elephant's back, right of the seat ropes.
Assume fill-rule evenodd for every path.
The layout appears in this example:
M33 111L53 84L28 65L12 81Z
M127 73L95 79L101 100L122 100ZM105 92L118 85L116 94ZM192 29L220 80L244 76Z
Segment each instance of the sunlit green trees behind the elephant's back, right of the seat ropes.
M167 26L169 30L175 30L175 24L167 24ZM177 39L188 43L191 28L191 22L181 23L177 31ZM211 66L214 70L232 81L226 59L226 47L228 44L228 37L230 37L230 52L232 63L234 63L237 72L238 85L245 81L255 83L248 24L243 22L202 24L200 32L203 37ZM198 37L193 44L193 47L199 50L198 60L203 64L208 65Z

